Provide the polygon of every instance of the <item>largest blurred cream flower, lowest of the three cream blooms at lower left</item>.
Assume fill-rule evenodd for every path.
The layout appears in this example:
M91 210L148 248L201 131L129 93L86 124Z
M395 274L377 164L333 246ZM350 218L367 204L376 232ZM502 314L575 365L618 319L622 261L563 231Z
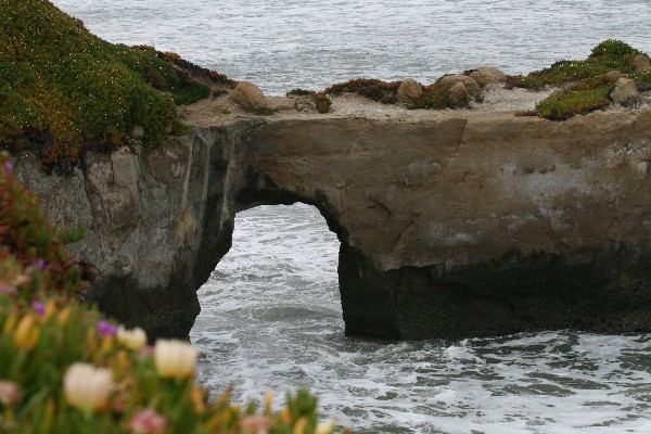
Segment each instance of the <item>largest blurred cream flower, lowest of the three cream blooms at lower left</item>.
M73 363L63 378L63 391L67 404L84 411L103 406L112 390L111 371L92 365Z

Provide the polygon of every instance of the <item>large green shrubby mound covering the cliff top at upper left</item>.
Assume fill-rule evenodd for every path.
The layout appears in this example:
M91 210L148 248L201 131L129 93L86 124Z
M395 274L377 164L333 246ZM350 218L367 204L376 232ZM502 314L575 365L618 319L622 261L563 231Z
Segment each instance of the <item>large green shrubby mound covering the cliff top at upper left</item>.
M40 139L46 164L118 146L136 126L154 146L175 101L209 93L155 50L108 43L46 0L0 0L0 145Z

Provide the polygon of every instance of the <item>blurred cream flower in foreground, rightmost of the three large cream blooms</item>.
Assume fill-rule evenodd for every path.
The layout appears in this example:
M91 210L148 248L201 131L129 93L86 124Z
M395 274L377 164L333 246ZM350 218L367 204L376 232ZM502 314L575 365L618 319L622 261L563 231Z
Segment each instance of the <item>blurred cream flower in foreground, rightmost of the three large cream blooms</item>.
M196 349L187 342L158 340L154 348L154 365L161 376L182 379L194 373Z

